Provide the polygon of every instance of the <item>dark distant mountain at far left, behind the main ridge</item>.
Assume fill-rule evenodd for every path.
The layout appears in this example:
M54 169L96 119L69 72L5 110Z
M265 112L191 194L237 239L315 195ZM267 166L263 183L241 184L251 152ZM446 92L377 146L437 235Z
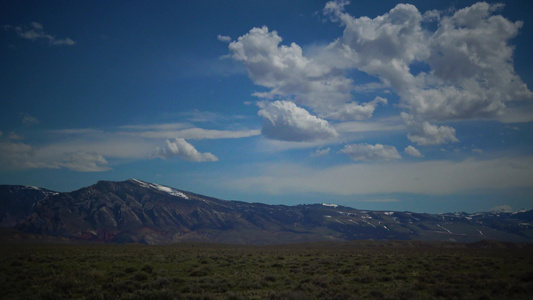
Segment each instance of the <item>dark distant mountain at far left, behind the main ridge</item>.
M28 217L34 204L56 192L22 185L0 185L0 227L12 227Z

